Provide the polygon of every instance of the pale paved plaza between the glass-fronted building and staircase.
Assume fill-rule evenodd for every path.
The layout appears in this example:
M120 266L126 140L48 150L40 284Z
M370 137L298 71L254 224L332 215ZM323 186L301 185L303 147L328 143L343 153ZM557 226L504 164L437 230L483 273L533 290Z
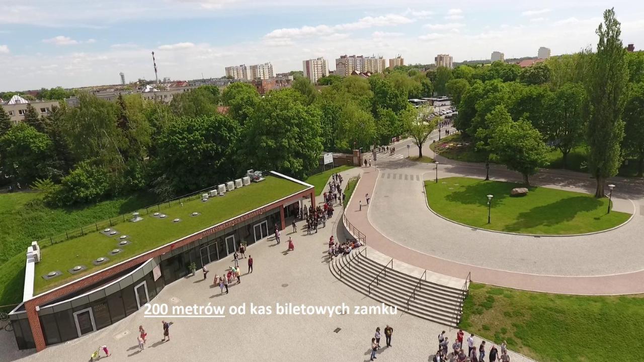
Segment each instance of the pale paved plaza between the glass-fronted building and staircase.
M345 173L345 182L359 168ZM161 318L144 317L138 310L114 325L68 343L46 348L39 354L33 350L17 351L13 334L0 333L0 361L87 361L99 345L107 345L112 354L106 361L368 361L370 341L375 327L393 327L391 348L382 348L378 361L428 361L437 349L441 330L455 338L457 330L444 327L399 311L395 315L354 315L355 306L377 306L380 303L360 294L332 276L328 267L327 243L337 233L340 211L317 234L306 235L302 223L298 233L287 226L276 244L272 236L251 245L247 254L254 259L254 272L247 274L242 260L242 283L229 287L229 294L220 294L211 285L214 274L232 265L232 258L208 265L207 280L201 272L168 285L153 303L173 305L295 305L335 306L345 303L351 314L333 316L270 316L245 315L225 318L167 318L172 321L171 341L161 342ZM341 228L340 228L341 230ZM287 251L289 236L295 250ZM401 265L404 269L404 266ZM247 310L247 313L249 311ZM147 347L139 352L138 326L148 332ZM340 329L337 333L336 329ZM481 339L475 339L477 346ZM384 347L384 337L381 341ZM490 342L487 342L488 349ZM531 361L511 354L512 361Z

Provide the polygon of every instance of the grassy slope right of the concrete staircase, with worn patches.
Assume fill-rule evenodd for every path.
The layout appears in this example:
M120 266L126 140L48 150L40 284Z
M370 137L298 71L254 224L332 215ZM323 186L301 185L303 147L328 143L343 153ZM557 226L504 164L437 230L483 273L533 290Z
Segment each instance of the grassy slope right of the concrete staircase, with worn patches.
M471 283L462 329L540 362L641 361L644 297L569 296ZM489 348L489 346L488 346Z

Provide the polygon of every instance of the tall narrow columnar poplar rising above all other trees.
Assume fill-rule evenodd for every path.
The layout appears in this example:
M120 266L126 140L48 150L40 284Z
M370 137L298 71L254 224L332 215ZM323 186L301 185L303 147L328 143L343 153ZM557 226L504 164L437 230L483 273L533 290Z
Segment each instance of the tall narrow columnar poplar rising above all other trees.
M587 128L588 169L597 181L595 197L604 196L606 178L616 175L621 164L620 144L624 135L621 112L629 79L620 22L614 10L606 10L603 20L596 31L600 39L587 82L591 106Z

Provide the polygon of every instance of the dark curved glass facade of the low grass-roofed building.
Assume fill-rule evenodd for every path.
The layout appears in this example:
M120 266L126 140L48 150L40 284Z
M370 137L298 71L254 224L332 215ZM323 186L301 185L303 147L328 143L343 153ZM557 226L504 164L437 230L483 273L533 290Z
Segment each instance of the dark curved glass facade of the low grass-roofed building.
M204 263L220 260L238 249L240 243L251 245L272 234L278 223L279 207L153 258L117 282L88 295L41 307L38 313L45 343L69 341L78 338L79 331L82 336L126 318L139 309L140 303L153 300L166 285L186 276L190 263L194 262L199 269ZM156 267L161 276L154 280ZM145 283L147 295L141 283ZM35 348L26 313L12 314L11 319L18 348Z

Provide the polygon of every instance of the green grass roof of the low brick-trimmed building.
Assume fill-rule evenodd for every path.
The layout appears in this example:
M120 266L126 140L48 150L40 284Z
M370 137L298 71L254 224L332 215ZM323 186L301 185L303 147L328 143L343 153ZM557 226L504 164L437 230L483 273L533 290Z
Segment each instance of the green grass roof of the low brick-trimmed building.
M208 202L193 199L185 201L183 206L178 203L170 206L165 204L166 206L161 208L161 212L167 214L167 218L164 219L155 218L151 214L147 215L143 210L141 214L144 220L137 223L115 224L113 229L120 234L111 238L98 231L91 231L85 236L55 243L52 246L43 245L42 260L35 268L34 292L37 294L80 276L91 274L303 189L305 186L301 184L269 176L258 184L253 183L251 186L245 186ZM151 210L150 213L154 211L156 210ZM194 212L201 214L191 216ZM181 222L173 223L174 218L180 218ZM122 247L123 251L119 254L109 255L109 251L118 247L120 235L128 235L131 243ZM99 266L93 265L91 262L100 256L108 257L109 262ZM88 269L72 276L68 269L75 265L84 265ZM53 280L44 280L42 276L50 271L61 271L63 275Z

